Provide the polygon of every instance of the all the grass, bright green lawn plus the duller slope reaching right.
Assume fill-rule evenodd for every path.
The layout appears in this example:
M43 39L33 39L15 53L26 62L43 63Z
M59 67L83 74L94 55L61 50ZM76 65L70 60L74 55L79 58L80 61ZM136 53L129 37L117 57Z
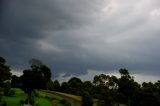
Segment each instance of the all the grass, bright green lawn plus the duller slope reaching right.
M5 101L7 103L7 106L20 106L20 101L21 100L25 100L27 98L27 95L21 90L21 89L17 89L14 88L13 89L15 91L15 95L13 96L3 96L2 97L2 101ZM80 96L76 96L76 95L71 95L71 94L66 94L66 93L60 93L61 95L67 96L71 99L77 100L77 101L82 101L82 98ZM64 99L61 96L58 96L56 94L53 93L47 93L44 91L40 91L40 90L36 90L36 97L35 97L35 105L38 106L64 106L61 101ZM72 100L68 102L72 102ZM77 102L78 103L78 102ZM77 106L79 106L79 104L77 104ZM94 100L94 104L93 106L97 106L97 100ZM120 106L125 106L120 104Z

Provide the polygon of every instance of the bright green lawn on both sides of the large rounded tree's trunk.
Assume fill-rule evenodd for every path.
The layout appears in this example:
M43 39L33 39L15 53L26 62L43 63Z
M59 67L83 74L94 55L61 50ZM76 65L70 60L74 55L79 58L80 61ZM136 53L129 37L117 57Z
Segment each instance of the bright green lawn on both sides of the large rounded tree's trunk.
M3 96L2 101L5 101L7 103L7 106L20 106L20 101L25 100L27 98L27 95L21 90L21 89L13 89L15 91L14 96ZM38 97L35 98L35 105L38 106L64 106L60 103L60 100L62 98L41 92L36 91L38 93Z

